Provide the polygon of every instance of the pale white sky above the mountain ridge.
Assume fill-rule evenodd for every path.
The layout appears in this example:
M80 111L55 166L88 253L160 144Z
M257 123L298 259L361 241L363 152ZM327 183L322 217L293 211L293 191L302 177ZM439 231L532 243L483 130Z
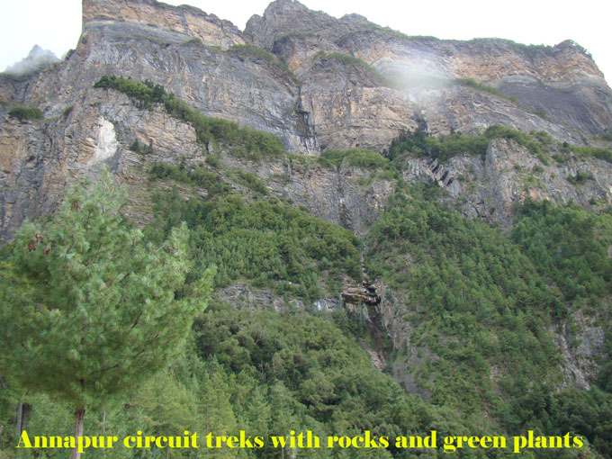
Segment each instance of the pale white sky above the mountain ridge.
M263 14L268 0L169 0L193 4L244 30L252 14ZM303 0L332 16L357 13L373 23L408 35L470 40L497 37L526 44L554 45L571 39L587 49L612 81L612 27L601 0ZM40 45L59 58L76 47L81 31L81 0L3 0L0 5L0 71Z

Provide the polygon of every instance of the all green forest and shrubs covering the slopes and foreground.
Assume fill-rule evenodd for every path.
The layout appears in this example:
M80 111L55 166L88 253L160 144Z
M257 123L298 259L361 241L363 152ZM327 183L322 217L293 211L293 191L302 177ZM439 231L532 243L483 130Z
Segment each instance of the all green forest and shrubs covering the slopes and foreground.
M251 164L286 154L274 136L204 117L159 85L108 76L96 86L128 94L143 110L163 105L193 125L204 151L214 144ZM605 353L612 355L609 207L595 212L527 200L504 232L442 203L446 192L437 184L401 178L404 157L482 156L497 138L535 154L550 146L541 133L491 126L479 136L404 132L382 154L324 152L321 165L384 172L393 185L362 239L275 197L256 174L229 171L213 155L197 166L148 162L140 172L149 180L151 214L142 228L122 213L127 190L109 173L98 184L73 186L58 216L26 223L0 248L0 320L10 324L0 343L0 455L65 457L61 449L14 446L23 429L70 436L76 417L85 435L120 437L138 430L201 437L367 430L390 438L531 430L581 436L594 457L612 457L612 362L599 362L589 390L564 383L554 335L561 324L572 327L573 318L593 318L608 330ZM130 148L151 154L138 141ZM160 183L165 187L153 186ZM376 311L364 305L314 307L364 275L386 286L381 301L410 324L410 333L381 332ZM220 290L235 284L266 291L284 308L240 308L223 300ZM295 299L305 306L291 306ZM385 356L382 371L372 364L372 349ZM527 450L521 457L584 452ZM446 457L441 448L394 444L298 451L269 442L257 450L131 454ZM112 459L125 452L85 455ZM459 449L455 455L509 452Z

